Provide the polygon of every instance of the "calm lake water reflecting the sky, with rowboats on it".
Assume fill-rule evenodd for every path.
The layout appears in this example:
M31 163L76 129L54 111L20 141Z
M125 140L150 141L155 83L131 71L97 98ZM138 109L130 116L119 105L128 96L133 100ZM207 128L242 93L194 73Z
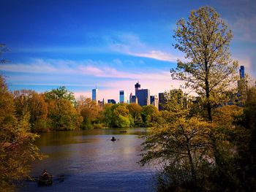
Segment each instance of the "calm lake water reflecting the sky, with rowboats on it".
M155 171L140 166L141 142L138 136L145 128L94 129L59 131L42 134L37 139L40 151L48 155L33 164L31 176L47 169L53 178L51 186L23 181L17 191L155 191ZM116 137L116 141L110 141Z

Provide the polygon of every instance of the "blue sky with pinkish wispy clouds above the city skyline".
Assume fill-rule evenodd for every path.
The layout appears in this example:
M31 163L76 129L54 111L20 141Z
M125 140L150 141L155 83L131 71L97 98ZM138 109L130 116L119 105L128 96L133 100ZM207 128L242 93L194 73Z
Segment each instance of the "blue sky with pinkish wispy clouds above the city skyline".
M173 47L176 21L211 6L234 37L232 58L256 77L254 0L0 0L0 44L10 49L0 74L10 90L69 91L116 99L134 85L151 95L179 88L170 69L183 53Z

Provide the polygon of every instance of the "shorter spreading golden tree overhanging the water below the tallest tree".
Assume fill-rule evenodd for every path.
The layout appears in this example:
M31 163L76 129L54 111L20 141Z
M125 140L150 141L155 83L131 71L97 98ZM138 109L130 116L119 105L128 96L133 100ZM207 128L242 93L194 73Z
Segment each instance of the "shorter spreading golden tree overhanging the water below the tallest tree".
M140 164L160 164L167 179L165 184L169 185L165 188L167 191L196 189L204 178L200 169L211 166L213 158L208 139L211 123L190 118L189 110L178 100L178 92L167 95L170 96L165 106L167 110L145 136Z

